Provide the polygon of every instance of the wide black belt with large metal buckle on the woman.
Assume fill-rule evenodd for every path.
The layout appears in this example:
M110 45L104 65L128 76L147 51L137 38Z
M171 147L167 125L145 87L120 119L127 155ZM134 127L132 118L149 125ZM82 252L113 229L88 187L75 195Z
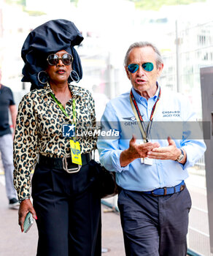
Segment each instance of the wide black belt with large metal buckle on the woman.
M90 153L82 154L82 165L88 164L92 159ZM80 171L82 165L77 165L71 162L71 157L64 156L63 158L45 157L39 154L39 165L44 167L53 168L56 170L66 170L67 173L77 173Z

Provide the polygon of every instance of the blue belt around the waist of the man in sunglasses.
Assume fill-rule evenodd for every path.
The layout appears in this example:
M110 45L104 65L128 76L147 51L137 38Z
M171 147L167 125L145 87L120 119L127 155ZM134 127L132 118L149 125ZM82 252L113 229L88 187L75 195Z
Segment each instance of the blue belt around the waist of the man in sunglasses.
M159 197L160 195L172 195L174 193L180 192L185 189L185 182L182 181L175 187L162 187L159 189L154 189L152 191L143 191L143 194L153 195L154 197Z

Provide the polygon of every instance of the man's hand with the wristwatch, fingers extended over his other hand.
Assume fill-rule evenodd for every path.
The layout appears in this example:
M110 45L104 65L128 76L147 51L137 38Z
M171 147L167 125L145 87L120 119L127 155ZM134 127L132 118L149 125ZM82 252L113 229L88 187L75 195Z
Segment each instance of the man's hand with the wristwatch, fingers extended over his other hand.
M181 154L181 151L174 143L174 140L171 140L168 137L169 146L162 148L153 148L152 151L147 153L147 157L152 159L163 159L163 160L177 160L177 157ZM184 159L182 159L182 164L186 162L186 154Z

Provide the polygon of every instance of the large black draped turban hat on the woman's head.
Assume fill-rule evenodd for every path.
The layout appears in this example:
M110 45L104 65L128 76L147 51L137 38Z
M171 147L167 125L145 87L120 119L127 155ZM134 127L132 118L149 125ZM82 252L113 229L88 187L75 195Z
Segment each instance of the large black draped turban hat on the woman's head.
M23 82L31 82L32 89L41 89L44 84L38 80L38 73L47 67L47 56L66 50L73 56L72 69L82 78L82 65L80 56L74 49L74 45L80 45L84 38L80 31L69 20L50 20L38 26L28 34L21 57L25 62L23 67ZM71 78L69 78L71 82Z

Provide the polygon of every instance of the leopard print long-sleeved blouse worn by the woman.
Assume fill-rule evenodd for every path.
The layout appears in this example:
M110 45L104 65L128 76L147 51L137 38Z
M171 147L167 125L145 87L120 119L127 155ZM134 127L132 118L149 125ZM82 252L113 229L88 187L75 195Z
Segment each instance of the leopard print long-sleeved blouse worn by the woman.
M87 133L82 136L82 132L96 129L95 103L88 90L72 85L69 85L69 89L76 105L77 141L80 142L81 153L89 153L96 148L97 136L88 136ZM18 107L14 138L14 185L19 200L31 196L30 173L38 154L47 157L70 156L69 138L63 137L62 126L73 121L72 99L66 103L67 117L50 93L54 95L50 85L30 91Z

